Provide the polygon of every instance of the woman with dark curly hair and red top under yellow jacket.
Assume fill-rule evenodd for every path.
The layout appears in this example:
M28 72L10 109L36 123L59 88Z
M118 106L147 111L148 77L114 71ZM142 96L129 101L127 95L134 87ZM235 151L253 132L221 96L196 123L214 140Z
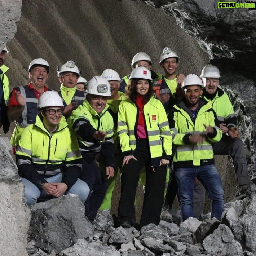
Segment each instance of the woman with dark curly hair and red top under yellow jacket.
M134 199L141 169L146 184L140 226L158 225L164 200L166 165L172 154L172 136L164 107L153 97L151 74L145 67L131 73L118 111L118 133L123 154L119 226L134 226Z

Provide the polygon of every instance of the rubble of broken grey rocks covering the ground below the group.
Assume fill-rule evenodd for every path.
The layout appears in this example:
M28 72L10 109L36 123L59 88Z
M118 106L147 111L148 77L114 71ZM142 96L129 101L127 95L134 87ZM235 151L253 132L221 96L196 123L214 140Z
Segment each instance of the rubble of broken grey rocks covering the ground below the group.
M115 227L109 211L98 212L93 224L84 205L67 195L31 208L27 253L30 256L75 255L218 255L256 253L256 186L225 205L222 221L205 215L180 223L177 212L158 226L140 230Z

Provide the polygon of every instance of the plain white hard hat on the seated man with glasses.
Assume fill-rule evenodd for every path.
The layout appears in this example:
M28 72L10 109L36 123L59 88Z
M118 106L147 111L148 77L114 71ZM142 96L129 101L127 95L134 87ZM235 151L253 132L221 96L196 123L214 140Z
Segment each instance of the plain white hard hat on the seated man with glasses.
M44 107L64 107L61 96L56 91L46 91L39 97L37 108Z

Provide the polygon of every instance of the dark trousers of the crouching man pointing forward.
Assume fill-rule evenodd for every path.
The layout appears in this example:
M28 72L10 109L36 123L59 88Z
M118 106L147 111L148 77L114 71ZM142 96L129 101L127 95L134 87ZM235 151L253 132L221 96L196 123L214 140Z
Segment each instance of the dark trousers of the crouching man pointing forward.
M108 185L95 160L90 158L85 160L84 156L83 168L79 178L85 181L90 188L90 194L84 205L85 215L88 217L89 221L92 222L105 197Z

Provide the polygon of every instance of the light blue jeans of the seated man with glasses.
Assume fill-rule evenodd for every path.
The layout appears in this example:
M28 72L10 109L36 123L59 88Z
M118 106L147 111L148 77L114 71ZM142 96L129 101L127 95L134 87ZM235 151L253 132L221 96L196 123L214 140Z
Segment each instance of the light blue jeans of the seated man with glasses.
M25 178L21 178L22 182L25 186L25 197L27 199L27 204L35 204L38 198L44 198L44 199L51 199L53 198L50 195L47 195L44 190L39 189L35 184L28 181ZM51 177L45 177L45 180L47 180L49 183L54 182L58 183L62 181L62 173L58 173ZM90 193L90 189L88 185L80 180L77 179L76 183L70 188L70 190L67 190L64 194L76 194L79 196L80 200L84 203L87 199L88 195Z

